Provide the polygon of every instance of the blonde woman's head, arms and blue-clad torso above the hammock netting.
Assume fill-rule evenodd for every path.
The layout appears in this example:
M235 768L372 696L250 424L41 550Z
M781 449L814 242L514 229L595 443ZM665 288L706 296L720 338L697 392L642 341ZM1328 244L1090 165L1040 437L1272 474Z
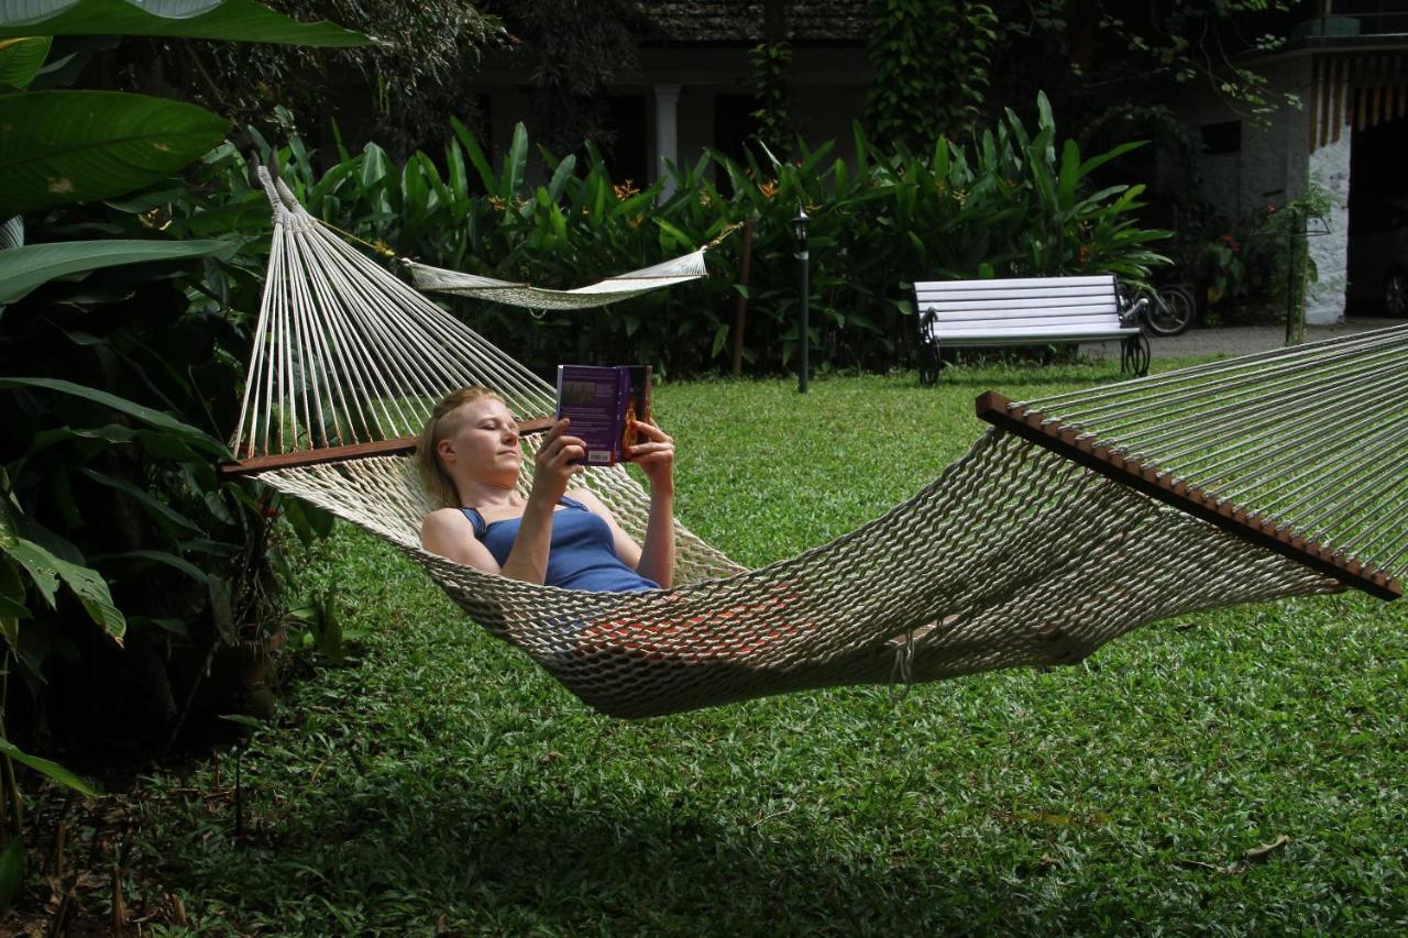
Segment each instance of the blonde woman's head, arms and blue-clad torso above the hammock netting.
M645 544L621 530L586 489L567 496L584 472L586 444L560 420L534 462L532 489L514 486L524 452L507 404L484 387L465 387L436 404L415 461L432 499L446 506L421 524L432 554L489 573L574 590L669 589L674 573L674 441L652 423L635 427L645 442L628 448L650 484Z

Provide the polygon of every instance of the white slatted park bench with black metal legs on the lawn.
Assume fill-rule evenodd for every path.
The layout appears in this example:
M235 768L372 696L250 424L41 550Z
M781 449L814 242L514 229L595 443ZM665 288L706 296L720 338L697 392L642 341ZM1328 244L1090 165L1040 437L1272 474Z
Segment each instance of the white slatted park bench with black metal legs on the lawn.
M956 346L1066 345L1119 341L1119 369L1149 372L1139 331L1143 300L1125 304L1114 275L1012 280L919 280L919 380L939 375L939 351Z

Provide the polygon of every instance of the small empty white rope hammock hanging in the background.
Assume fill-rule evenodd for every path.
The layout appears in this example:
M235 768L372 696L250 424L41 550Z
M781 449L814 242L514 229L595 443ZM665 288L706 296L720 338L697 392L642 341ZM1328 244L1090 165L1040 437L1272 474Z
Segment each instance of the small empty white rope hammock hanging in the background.
M618 273L600 283L574 290L548 290L527 283L494 280L493 277L480 277L473 273L445 270L444 268L432 268L414 261L404 261L403 263L411 272L415 286L421 290L469 296L477 300L489 300L490 303L525 306L534 310L586 310L707 276L708 270L704 268L704 252L707 249L700 248L683 258L665 261L629 273Z

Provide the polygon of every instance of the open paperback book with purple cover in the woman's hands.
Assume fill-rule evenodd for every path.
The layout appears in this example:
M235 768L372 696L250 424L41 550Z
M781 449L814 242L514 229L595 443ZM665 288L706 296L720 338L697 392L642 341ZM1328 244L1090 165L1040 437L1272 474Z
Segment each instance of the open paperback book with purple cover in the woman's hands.
M634 420L650 418L649 365L559 365L558 420L587 444L586 463L614 466L634 446Z

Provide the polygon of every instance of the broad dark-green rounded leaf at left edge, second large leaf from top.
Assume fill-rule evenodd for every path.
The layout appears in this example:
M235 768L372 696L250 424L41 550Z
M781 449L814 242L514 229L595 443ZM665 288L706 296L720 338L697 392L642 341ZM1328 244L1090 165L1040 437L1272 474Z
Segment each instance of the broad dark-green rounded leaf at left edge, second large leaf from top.
M227 128L203 107L144 94L3 94L0 217L149 186L199 159Z

